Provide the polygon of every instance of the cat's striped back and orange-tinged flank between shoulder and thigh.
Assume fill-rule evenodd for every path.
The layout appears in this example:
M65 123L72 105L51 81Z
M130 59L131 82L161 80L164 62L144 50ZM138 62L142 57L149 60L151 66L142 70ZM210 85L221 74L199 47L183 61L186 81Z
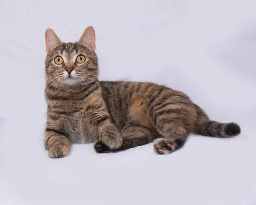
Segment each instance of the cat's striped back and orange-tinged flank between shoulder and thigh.
M100 81L112 122L119 131L131 119L147 121L155 108L166 104L194 107L189 97L165 85L129 81ZM144 124L144 122L143 122Z

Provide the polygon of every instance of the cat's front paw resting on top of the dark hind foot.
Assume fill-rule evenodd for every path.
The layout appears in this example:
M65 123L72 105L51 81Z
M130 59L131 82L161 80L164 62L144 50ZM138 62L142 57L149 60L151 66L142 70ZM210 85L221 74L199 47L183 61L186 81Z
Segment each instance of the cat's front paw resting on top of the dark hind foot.
M110 149L117 149L122 145L122 137L118 133L104 134L101 141Z

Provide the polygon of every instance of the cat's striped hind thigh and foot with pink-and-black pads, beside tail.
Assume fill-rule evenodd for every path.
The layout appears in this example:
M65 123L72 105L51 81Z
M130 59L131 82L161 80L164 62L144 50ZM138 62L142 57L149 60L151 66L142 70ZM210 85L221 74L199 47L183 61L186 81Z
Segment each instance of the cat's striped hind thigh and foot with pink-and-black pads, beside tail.
M159 105L155 108L152 121L157 132L164 138L154 144L157 154L170 154L186 142L193 122L195 111L187 105Z

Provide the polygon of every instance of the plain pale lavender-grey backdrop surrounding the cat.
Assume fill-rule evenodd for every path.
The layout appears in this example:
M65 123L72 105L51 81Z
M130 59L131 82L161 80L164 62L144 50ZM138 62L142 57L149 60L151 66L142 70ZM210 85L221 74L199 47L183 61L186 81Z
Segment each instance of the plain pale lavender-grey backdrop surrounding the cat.
M256 204L254 0L1 0L0 204ZM233 139L189 137L167 156L153 144L115 154L43 147L44 32L64 42L96 30L100 80L181 90Z

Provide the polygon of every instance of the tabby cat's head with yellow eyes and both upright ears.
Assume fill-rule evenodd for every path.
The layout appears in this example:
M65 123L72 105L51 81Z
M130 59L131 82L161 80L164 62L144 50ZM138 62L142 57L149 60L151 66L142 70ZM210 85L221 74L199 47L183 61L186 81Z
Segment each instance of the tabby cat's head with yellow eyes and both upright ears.
M98 59L94 52L95 31L92 26L85 29L76 43L62 43L55 32L48 28L45 31L45 42L47 83L75 86L97 79Z

